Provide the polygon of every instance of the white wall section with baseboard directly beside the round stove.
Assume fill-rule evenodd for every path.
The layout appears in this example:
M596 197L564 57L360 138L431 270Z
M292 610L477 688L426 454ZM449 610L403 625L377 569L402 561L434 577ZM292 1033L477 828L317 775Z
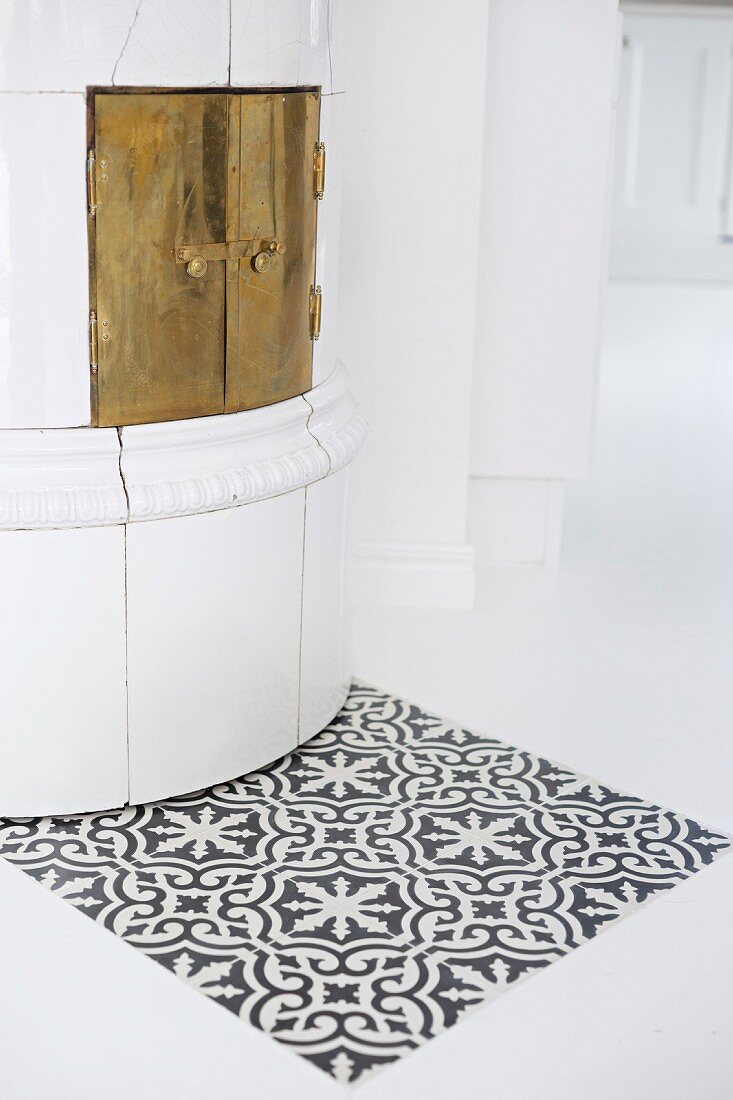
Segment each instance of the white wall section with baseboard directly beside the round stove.
M339 343L371 422L357 587L468 605L468 429L486 0L344 6Z

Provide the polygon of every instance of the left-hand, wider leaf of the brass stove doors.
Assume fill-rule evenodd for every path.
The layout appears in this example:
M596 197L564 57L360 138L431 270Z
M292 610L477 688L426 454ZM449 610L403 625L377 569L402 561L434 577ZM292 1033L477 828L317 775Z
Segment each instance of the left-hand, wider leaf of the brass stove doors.
M223 265L192 278L175 250L225 239L227 108L210 92L95 96L100 426L223 411Z

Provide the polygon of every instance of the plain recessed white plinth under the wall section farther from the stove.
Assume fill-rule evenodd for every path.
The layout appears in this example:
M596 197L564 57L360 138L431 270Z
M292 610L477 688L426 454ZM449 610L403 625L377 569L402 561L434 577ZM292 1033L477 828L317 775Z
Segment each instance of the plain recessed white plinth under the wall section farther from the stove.
M543 477L471 477L468 529L479 561L557 565L565 483Z

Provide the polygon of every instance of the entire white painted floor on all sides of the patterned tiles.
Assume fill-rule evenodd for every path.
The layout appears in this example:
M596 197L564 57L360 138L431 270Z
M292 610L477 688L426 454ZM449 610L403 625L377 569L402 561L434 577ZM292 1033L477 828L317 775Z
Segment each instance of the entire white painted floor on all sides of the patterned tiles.
M564 563L472 613L362 608L355 671L733 832L733 288L614 286ZM358 1087L364 1100L730 1100L733 858ZM344 1089L0 861L2 1100Z

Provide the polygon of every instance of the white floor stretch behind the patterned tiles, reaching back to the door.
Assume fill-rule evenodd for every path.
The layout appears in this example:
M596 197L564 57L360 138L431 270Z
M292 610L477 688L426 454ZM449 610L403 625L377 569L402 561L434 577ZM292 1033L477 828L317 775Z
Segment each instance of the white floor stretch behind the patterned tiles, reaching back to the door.
M355 668L733 832L733 287L613 285L598 420L561 568L485 568L472 613L364 608Z

